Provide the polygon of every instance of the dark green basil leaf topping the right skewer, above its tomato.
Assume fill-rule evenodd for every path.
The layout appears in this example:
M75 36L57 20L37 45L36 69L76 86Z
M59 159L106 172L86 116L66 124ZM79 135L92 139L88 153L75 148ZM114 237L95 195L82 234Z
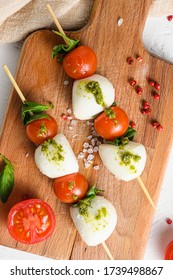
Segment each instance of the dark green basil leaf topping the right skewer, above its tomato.
M68 41L68 45L66 44L60 44L57 45L53 48L52 51L52 58L54 58L56 55L61 54L61 59L63 56L65 56L67 53L71 52L74 48L76 48L79 45L79 40L78 39L70 39L66 35L58 32L58 31L53 31L55 34L58 34L59 36L65 38Z

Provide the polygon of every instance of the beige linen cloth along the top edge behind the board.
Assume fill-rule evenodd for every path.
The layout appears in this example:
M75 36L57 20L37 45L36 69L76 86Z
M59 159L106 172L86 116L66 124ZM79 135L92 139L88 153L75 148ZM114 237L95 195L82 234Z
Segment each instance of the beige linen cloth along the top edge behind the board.
M145 0L143 0L145 1ZM94 0L0 0L0 43L21 41L31 32L53 28L50 4L64 30L83 27ZM128 2L128 1L127 1ZM153 0L150 16L173 14L173 0Z

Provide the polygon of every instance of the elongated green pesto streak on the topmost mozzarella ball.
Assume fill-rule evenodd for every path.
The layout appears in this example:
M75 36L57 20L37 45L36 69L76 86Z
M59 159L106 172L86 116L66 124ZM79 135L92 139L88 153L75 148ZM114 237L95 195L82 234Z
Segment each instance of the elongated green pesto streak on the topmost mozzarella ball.
M85 89L87 92L92 93L94 95L97 104L99 104L101 106L106 106L106 104L104 102L104 98L103 98L103 93L102 93L101 87L98 82L89 81L85 85Z

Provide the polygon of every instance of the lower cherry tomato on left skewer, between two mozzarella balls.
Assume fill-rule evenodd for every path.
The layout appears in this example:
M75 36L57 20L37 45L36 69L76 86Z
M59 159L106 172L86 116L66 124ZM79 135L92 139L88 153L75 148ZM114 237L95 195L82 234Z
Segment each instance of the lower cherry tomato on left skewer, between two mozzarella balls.
M53 182L57 198L65 203L73 203L82 199L87 190L88 182L80 173L73 173L56 178Z

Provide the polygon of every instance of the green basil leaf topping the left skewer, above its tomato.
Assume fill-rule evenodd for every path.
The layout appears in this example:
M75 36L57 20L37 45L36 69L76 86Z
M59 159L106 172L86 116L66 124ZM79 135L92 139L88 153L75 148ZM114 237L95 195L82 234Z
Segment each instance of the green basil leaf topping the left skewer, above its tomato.
M40 114L44 112L45 110L52 107L52 103L49 105L43 105L35 102L28 102L26 101L22 106L22 122L24 125L27 125L28 123L41 119L41 118L49 118L46 114Z

